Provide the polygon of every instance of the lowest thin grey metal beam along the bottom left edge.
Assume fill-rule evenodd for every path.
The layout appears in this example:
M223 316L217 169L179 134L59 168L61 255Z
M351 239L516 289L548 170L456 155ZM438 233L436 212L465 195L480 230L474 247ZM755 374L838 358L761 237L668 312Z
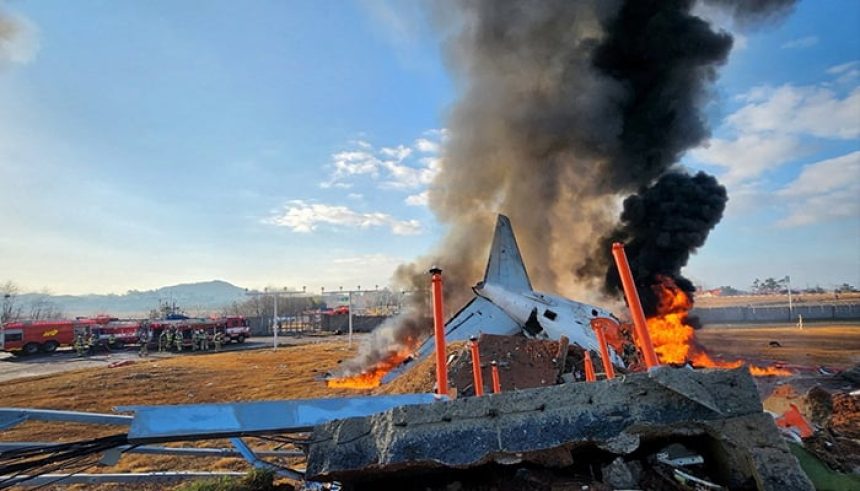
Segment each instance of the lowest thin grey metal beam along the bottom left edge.
M104 484L139 483L152 481L181 481L186 479L206 479L220 477L243 477L244 472L141 472L120 474L42 474L40 476L0 476L0 483L20 486L45 486L49 484Z

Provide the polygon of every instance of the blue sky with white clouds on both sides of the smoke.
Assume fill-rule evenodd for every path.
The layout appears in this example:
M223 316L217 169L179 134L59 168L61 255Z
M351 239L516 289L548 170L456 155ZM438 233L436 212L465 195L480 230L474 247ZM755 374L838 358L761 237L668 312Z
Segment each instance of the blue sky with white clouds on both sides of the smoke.
M0 0L0 282L387 285L444 232L458 87L423 5ZM739 33L683 159L730 197L697 284L860 286L858 33L854 0Z

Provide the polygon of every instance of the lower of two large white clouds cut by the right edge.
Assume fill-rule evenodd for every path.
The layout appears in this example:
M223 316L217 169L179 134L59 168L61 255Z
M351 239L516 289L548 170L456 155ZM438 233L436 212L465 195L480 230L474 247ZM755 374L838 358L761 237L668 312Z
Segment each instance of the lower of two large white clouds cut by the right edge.
M804 166L776 195L788 215L777 225L797 227L833 219L860 221L860 151Z

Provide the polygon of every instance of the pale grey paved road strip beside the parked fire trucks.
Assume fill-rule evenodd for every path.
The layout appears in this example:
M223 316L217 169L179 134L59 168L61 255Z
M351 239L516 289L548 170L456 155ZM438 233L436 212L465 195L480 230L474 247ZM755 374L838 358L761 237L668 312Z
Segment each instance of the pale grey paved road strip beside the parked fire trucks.
M359 342L364 335L356 334L353 341ZM309 343L320 343L325 341L343 340L346 341L346 336L280 336L278 338L279 346L295 346ZM251 349L265 349L272 347L271 337L251 337L242 344L230 343L222 348L223 351L239 351ZM170 358L173 356L199 356L203 353L185 351L182 354L178 353L159 353L157 351L149 352L150 359ZM0 352L0 382L33 377L39 375L50 375L53 373L67 372L70 370L79 370L81 368L104 367L111 363L121 362L124 360L138 360L137 349L129 347L123 351L114 351L112 353L99 353L93 356L80 358L75 355L73 350L58 350L56 353L48 355L39 354L36 356L12 356L9 353ZM3 389L0 385L0 395ZM0 402L2 405L2 402Z

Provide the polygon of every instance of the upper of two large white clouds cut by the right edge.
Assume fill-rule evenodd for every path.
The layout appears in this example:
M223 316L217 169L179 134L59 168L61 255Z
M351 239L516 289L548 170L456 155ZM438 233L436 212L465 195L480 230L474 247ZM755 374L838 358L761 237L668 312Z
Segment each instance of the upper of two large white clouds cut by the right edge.
M840 98L823 87L783 85L754 89L745 99L749 104L727 119L742 132L808 134L835 139L860 136L860 87Z

